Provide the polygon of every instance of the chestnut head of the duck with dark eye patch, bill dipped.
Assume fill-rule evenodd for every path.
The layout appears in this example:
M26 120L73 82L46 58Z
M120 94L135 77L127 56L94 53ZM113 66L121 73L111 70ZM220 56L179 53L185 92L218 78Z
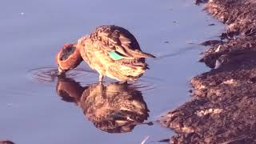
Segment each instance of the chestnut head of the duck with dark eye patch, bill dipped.
M58 74L64 74L67 70L72 70L82 62L81 54L76 44L65 44L56 56L58 63Z

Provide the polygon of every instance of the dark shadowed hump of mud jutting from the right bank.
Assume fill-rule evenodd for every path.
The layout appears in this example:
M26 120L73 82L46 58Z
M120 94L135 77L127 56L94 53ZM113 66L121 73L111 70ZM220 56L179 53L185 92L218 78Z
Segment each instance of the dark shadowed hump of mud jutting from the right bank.
M205 62L210 68L215 67L217 60L222 63L222 66L250 66L254 65L255 54L256 34L216 44L209 50L206 50L200 62Z

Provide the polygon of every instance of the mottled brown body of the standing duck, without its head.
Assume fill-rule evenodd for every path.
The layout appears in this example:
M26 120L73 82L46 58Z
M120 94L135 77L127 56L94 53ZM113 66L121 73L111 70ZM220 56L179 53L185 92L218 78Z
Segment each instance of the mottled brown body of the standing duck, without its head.
M103 76L121 82L137 80L148 69L145 58L155 58L142 52L134 35L119 26L98 26L74 46L89 66L98 71L99 81Z

